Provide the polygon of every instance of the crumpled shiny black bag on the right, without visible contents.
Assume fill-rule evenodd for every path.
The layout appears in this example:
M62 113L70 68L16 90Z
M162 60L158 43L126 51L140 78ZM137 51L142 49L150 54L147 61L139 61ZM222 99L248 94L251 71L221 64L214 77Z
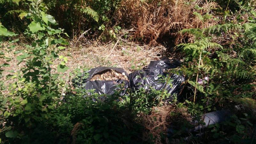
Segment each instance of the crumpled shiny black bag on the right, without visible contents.
M172 86L166 84L159 76L167 77L168 73L165 70L171 68L177 68L180 66L179 61L170 62L169 59L150 61L147 68L132 72L128 75L130 81L130 88L133 90L139 90L143 87L145 90L149 90L150 87L156 90L162 90L165 88L169 94L177 93L181 90L181 83L185 81L185 77L182 75L171 74L170 79L173 81Z

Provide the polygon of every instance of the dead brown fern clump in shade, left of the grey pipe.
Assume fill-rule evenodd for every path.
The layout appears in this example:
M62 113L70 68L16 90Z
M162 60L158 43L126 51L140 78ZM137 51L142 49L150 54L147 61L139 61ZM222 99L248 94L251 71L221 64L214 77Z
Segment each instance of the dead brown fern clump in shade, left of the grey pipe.
M148 140L152 135L155 144L170 143L168 138L162 140L163 135L167 135L167 128L181 126L184 122L192 123L192 116L188 114L186 108L177 108L173 105L153 107L151 114L141 114L141 123L146 128L143 132L143 140Z

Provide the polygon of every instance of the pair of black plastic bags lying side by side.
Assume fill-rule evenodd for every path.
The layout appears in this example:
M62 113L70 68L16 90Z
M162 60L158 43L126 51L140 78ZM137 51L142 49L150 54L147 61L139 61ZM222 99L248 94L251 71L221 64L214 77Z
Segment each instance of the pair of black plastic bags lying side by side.
M177 68L180 66L180 62L174 61L170 62L169 59L154 60L150 61L147 68L143 68L138 71L134 71L128 75L128 80L117 79L111 81L101 81L95 80L90 81L94 75L97 75L105 70L114 70L118 73L127 76L127 73L122 68L112 68L112 67L97 67L92 68L88 72L86 79L82 79L82 84L86 90L94 89L95 93L112 95L116 90L121 90L120 96L126 94L126 89L131 88L132 90L139 90L141 87L145 90L149 90L150 87L156 90L162 90L165 88L168 93L174 94L179 93L181 90L181 84L185 81L185 77L182 75L172 74L170 78L172 79L172 84L166 84L166 82L161 81L159 76L166 77L166 70L171 68ZM82 77L83 77L82 76ZM75 80L73 80L74 82ZM122 85L122 87L120 87ZM92 93L88 92L88 95Z

